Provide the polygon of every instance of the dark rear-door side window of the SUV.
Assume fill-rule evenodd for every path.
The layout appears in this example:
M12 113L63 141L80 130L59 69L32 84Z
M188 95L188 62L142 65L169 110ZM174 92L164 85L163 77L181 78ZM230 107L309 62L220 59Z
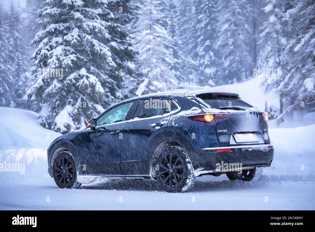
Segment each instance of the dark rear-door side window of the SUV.
M140 100L133 118L148 118L162 115L163 112L169 111L164 99L145 99Z

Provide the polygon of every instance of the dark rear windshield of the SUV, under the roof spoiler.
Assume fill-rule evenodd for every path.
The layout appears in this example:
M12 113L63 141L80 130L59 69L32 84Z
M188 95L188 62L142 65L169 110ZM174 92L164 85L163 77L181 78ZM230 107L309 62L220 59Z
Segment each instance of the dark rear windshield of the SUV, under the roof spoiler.
M211 108L220 109L221 107L226 106L241 106L250 108L253 107L250 104L244 102L241 98L236 96L228 96L228 95L209 95L209 96L200 96L206 104L208 104Z

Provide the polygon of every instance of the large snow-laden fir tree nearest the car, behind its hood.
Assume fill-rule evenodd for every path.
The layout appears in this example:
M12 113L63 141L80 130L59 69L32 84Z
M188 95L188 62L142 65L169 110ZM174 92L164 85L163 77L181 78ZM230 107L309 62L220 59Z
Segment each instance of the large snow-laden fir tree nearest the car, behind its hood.
M44 4L37 12L42 30L33 40L38 73L25 99L41 101L43 127L66 133L125 97L120 89L136 51L124 27L137 8L129 0Z

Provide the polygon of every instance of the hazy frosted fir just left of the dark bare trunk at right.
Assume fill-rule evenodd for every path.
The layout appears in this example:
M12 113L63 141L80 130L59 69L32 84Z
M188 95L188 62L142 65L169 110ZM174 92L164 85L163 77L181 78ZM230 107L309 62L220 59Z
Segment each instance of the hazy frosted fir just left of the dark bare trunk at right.
M217 8L220 72L218 78L225 84L241 81L251 63L248 47L250 38L250 5L246 0L219 0Z

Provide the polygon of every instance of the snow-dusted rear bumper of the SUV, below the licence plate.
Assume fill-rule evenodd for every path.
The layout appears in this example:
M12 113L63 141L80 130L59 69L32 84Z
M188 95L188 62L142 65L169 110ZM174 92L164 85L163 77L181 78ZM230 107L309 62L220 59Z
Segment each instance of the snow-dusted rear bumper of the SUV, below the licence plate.
M273 160L273 148L270 144L227 146L204 148L188 152L196 176L206 173L269 167ZM232 149L217 152L216 150ZM227 169L226 169L227 167ZM236 170L236 168L235 168Z

